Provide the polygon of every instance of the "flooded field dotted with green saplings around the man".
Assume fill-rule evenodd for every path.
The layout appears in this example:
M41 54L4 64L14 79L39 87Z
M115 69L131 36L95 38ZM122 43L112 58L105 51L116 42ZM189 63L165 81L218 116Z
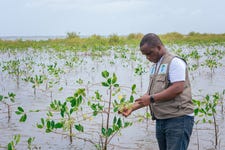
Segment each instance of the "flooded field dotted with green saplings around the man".
M167 48L187 59L199 108L189 150L225 150L225 47ZM16 149L95 150L106 144L110 150L157 150L149 110L124 118L115 102L145 93L150 66L138 48L129 47L104 53L1 52L0 149L11 142Z

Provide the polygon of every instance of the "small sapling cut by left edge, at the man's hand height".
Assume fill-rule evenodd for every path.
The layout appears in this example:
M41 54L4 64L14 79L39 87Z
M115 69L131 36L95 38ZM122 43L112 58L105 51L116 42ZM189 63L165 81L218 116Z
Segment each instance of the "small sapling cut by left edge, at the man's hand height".
M10 102L14 103L15 102L15 96L16 94L14 93L8 93L8 96L3 96L0 95L0 102L2 102L3 104L5 104L7 106L8 109L8 122L10 121L11 118L11 110L10 110L10 104L7 102L7 100L10 100Z

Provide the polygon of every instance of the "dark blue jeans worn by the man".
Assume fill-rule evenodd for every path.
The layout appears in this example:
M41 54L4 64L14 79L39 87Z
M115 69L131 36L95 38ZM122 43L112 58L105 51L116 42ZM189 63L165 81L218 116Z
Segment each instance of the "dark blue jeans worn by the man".
M187 150L194 117L156 119L156 138L160 150Z

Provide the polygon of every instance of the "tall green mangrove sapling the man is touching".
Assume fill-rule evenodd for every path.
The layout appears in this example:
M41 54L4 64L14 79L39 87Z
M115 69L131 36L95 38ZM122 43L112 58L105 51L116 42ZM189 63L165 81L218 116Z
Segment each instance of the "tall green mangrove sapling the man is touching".
M128 127L131 125L129 122L123 123L122 119L120 117L117 117L114 115L113 117L113 123L111 123L110 127L110 120L111 117L111 109L112 109L112 100L115 96L115 93L118 92L119 84L117 83L117 77L115 73L110 77L108 71L102 72L102 77L105 78L105 82L102 82L103 87L107 87L107 90L109 90L109 98L107 101L102 100L102 95L96 91L95 92L95 99L98 100L97 103L91 103L89 102L89 106L93 110L93 116L97 116L97 114L101 114L102 116L102 123L101 123L101 134L100 134L100 143L96 145L96 148L107 150L108 144L112 140L112 138L122 129L125 127ZM105 106L108 105L106 108ZM121 104L122 105L122 104ZM114 110L118 110L117 108L114 108ZM106 114L106 117L104 119L104 114ZM104 122L106 120L106 122Z

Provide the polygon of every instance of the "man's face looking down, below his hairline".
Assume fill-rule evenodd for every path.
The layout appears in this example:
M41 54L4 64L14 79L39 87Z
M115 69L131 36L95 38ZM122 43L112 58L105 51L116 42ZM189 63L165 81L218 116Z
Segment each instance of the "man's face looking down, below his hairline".
M153 62L157 63L161 58L161 46L151 47L147 43L145 43L141 47L141 53L146 56L146 58Z

